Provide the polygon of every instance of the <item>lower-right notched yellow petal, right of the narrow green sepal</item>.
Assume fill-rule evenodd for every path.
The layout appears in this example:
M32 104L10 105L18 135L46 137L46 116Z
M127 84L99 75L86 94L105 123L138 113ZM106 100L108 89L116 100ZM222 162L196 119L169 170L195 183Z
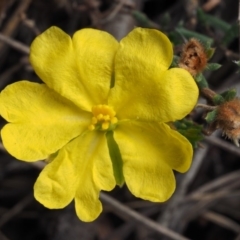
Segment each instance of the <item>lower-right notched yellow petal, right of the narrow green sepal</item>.
M122 122L114 131L130 191L153 202L166 201L175 190L172 169L188 170L191 144L166 124Z

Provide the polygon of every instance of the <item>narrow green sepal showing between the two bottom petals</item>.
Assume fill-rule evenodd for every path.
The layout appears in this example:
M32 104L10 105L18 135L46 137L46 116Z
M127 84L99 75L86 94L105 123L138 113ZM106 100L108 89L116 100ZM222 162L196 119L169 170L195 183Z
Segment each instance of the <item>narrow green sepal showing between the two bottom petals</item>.
M112 160L113 164L113 173L116 180L116 184L120 187L123 186L125 180L123 176L123 161L122 156L119 150L119 147L113 137L113 131L108 131L106 133L107 137L107 144L108 144L108 151L109 155Z

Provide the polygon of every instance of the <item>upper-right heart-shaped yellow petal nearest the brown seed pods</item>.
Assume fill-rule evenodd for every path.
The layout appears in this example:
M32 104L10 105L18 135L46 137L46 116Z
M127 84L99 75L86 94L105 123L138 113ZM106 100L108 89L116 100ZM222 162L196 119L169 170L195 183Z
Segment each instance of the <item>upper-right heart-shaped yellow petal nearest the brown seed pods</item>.
M192 110L197 85L186 70L167 70L172 56L170 41L157 30L137 28L120 42L109 96L119 119L168 122Z

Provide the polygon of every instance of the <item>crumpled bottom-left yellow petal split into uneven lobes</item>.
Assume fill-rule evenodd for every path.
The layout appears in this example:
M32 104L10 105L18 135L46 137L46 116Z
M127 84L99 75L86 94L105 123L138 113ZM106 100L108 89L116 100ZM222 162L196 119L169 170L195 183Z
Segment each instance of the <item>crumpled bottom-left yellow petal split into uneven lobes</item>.
M99 192L114 186L105 134L88 132L63 147L45 167L34 194L48 208L63 208L75 197L78 217L88 222L102 211Z

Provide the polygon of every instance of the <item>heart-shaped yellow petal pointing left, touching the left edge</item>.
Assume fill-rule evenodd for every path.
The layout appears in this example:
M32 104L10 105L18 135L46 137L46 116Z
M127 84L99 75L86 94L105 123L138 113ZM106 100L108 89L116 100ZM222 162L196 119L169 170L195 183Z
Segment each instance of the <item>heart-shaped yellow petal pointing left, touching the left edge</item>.
M10 154L25 161L48 157L87 128L91 114L49 89L21 81L0 94L0 114L7 124L1 131Z

